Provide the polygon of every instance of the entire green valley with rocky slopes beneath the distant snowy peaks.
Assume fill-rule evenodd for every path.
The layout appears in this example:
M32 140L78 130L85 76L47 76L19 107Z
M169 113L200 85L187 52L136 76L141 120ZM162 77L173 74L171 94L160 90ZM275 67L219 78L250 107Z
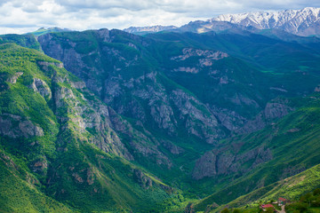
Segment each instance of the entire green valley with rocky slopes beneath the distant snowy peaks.
M241 21L0 36L0 211L258 212L320 187L318 20Z

